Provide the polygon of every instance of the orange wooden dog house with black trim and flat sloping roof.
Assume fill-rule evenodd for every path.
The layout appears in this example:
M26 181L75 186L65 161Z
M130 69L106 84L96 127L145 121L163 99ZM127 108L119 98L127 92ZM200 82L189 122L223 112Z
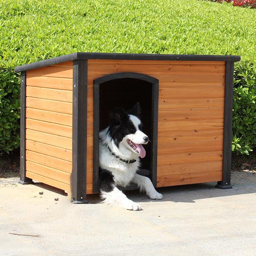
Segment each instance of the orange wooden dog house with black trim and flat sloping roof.
M154 186L218 182L231 188L232 90L239 56L77 52L21 72L21 176L98 192L98 133L113 106L142 105L151 144L142 168Z

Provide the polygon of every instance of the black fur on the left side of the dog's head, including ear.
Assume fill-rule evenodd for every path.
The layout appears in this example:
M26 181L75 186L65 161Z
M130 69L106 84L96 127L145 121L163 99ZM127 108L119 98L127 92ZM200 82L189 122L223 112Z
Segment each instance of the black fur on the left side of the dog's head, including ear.
M128 114L122 108L115 108L110 114L109 133L116 146L128 134L134 134L136 128Z

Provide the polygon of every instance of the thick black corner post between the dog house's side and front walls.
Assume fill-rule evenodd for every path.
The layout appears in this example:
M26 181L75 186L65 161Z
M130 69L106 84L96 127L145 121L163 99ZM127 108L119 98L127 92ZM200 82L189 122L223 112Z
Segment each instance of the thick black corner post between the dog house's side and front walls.
M71 202L86 204L87 60L73 61Z

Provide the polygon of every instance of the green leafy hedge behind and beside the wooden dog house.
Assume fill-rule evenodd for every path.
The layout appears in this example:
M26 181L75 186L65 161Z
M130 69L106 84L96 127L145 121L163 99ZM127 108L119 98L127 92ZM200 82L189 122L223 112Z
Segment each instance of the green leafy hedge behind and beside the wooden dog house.
M236 73L240 73L256 63L256 47L252 47L256 42L255 11L198 0L0 1L0 68L10 70L1 72L0 81L8 81L18 90L14 66L71 52L233 54L241 55L244 61L242 66L236 65ZM252 87L246 84L249 78L240 79L236 74L236 80L241 80L237 83L243 90ZM4 87L3 94L6 90ZM239 89L235 90L236 97ZM10 127L4 128L10 129L10 139L2 138L0 152L18 145L19 109L12 93L14 90L1 96L1 102L9 102L9 107L13 102L10 118L14 119L13 125L6 118L1 120L2 126ZM244 92L240 95L242 104L248 96ZM1 104L4 113L2 108L8 109L7 103ZM244 107L236 104L235 108ZM239 119L236 111L235 116ZM247 131L252 138L245 142L243 122L235 120L233 147L236 152L246 153L254 135Z

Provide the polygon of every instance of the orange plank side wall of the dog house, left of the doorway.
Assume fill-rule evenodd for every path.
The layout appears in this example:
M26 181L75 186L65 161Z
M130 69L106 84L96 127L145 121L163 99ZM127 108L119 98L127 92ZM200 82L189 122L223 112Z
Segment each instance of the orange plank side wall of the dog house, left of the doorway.
M26 177L70 191L72 61L26 72Z

